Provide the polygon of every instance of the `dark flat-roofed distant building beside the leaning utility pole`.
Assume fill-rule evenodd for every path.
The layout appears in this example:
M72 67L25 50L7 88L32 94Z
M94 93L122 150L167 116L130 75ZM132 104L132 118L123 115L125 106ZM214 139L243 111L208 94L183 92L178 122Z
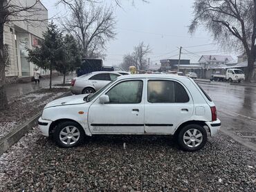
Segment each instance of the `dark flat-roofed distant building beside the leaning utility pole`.
M161 59L161 70L167 71L167 70L178 70L179 65L179 59ZM190 65L190 59L181 59L180 60L180 66L181 65Z

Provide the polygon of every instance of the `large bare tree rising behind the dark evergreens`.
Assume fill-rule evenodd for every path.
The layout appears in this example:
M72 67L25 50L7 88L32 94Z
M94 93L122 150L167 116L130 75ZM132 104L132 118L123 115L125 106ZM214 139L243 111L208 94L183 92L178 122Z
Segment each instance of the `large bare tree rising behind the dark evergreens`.
M76 37L82 56L99 55L106 48L107 42L116 36L113 10L84 0L62 2L71 11L70 17L62 21L62 26Z

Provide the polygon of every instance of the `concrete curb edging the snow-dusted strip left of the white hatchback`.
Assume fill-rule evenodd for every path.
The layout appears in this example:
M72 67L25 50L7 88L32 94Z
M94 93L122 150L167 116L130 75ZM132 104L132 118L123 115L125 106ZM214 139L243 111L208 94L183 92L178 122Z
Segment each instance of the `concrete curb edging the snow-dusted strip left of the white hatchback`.
M66 97L71 95L71 92L64 93L55 99L59 99L61 97ZM8 133L6 136L0 139L0 155L5 153L8 148L10 148L13 144L17 143L21 137L23 137L33 126L37 125L37 120L42 115L42 112L37 113L37 115L33 116L32 118L28 119L27 122L18 126L13 131Z

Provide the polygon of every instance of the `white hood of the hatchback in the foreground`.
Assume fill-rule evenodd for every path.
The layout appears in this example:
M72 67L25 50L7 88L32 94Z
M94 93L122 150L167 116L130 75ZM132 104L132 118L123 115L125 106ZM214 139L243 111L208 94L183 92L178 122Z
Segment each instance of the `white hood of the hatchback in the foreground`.
M44 108L49 108L53 106L65 106L65 105L75 105L75 104L84 104L84 97L89 94L82 95L72 95L68 97L62 97L60 99L56 99L53 102L48 103Z

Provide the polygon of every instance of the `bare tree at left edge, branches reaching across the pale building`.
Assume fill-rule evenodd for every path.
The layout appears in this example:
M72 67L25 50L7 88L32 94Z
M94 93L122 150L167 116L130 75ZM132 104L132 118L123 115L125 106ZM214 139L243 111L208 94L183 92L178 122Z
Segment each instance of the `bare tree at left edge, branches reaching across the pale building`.
M3 45L3 26L11 21L40 21L42 9L39 0L33 3L24 1L0 0L0 110L8 108L8 98L6 95L6 64Z

